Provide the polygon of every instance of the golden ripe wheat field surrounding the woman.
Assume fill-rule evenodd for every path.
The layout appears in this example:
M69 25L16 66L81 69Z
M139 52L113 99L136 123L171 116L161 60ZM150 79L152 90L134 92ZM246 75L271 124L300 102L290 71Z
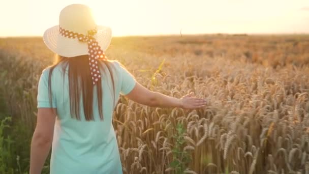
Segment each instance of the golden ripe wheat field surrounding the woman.
M208 102L183 110L121 97L113 125L123 173L309 174L309 36L119 37L106 54L148 89ZM38 79L52 62L41 38L0 39L13 173L27 171Z

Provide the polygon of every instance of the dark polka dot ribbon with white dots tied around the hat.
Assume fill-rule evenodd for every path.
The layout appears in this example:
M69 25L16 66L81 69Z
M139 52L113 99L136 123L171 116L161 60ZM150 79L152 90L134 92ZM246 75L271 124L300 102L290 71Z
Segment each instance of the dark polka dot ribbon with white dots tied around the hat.
M59 33L61 36L78 39L81 42L87 42L88 44L88 53L89 53L89 66L91 72L91 78L94 85L99 81L101 78L101 73L98 68L98 60L107 60L103 50L99 46L98 42L94 38L94 35L97 34L97 28L94 30L88 31L87 36L79 33L74 33L64 28L59 27Z

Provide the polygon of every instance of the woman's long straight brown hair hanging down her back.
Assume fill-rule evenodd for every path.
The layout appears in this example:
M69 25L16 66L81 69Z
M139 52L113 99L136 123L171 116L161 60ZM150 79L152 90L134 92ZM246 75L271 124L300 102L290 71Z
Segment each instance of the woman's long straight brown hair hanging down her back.
M77 120L80 119L80 97L82 97L83 101L83 110L86 121L94 121L94 113L92 107L92 101L94 97L94 89L97 88L98 93L98 108L100 119L103 120L103 104L102 104L102 83L101 78L98 83L94 86L92 84L92 79L90 76L90 67L88 62L88 55L80 55L76 57L63 57L60 55L55 55L56 61L50 66L50 71L48 75L48 90L49 90L49 102L50 105L52 103L52 93L51 93L51 75L54 68L61 64L63 66L63 70L65 71L67 66L69 65L69 97L70 97L70 112L71 117ZM99 67L102 70L103 64L107 67L107 70L110 74L112 86L113 86L113 103L115 103L115 86L114 86L114 78L113 72L111 70L111 64L109 61L99 60ZM103 71L101 71L103 72ZM65 73L63 73L65 76ZM104 74L102 74L102 77ZM82 95L80 95L80 93Z

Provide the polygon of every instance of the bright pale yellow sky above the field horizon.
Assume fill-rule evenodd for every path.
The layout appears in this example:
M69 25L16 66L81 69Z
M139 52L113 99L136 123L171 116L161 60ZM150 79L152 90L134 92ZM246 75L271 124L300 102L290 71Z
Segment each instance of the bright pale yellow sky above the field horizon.
M88 5L113 36L309 33L308 0L9 0L0 37L42 36L70 4Z

